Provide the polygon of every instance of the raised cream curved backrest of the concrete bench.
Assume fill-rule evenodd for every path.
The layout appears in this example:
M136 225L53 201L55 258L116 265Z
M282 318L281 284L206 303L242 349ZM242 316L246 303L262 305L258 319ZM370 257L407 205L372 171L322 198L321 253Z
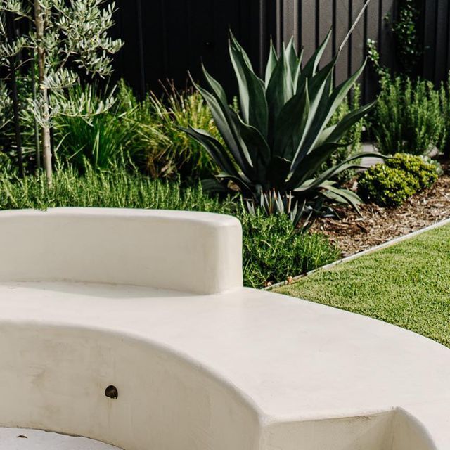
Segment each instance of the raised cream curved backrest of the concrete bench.
M203 212L0 212L0 281L79 281L213 294L242 286L242 231Z

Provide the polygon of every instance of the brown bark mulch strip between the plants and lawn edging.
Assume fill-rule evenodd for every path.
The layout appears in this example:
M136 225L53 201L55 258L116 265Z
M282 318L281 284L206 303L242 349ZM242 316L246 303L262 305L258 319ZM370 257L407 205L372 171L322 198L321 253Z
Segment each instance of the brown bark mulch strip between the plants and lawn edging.
M439 177L427 191L413 195L398 208L361 205L361 216L338 209L340 219L318 219L311 231L326 234L342 250L342 257L423 229L450 218L450 174Z

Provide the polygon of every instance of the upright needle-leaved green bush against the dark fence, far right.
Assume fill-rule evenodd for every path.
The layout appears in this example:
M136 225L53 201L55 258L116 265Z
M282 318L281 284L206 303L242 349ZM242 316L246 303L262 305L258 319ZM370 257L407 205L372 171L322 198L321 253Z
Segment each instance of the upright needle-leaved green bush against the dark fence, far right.
M446 122L432 82L385 76L380 87L372 122L380 151L426 155L435 147L443 150Z

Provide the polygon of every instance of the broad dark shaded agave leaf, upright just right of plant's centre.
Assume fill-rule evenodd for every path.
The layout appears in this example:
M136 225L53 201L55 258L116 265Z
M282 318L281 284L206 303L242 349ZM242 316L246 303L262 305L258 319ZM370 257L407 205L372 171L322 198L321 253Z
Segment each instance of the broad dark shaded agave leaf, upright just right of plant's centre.
M283 106L275 124L274 155L293 160L309 118L308 84Z

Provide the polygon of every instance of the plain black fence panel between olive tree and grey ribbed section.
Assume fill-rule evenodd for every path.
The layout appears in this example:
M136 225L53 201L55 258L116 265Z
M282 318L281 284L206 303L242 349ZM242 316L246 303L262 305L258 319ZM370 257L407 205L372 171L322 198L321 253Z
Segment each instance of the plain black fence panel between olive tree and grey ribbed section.
M227 36L233 30L260 67L264 36L259 1L119 0L115 36L125 41L116 76L139 93L158 90L160 81L186 85L188 71L200 78L203 62L214 77L234 88Z

